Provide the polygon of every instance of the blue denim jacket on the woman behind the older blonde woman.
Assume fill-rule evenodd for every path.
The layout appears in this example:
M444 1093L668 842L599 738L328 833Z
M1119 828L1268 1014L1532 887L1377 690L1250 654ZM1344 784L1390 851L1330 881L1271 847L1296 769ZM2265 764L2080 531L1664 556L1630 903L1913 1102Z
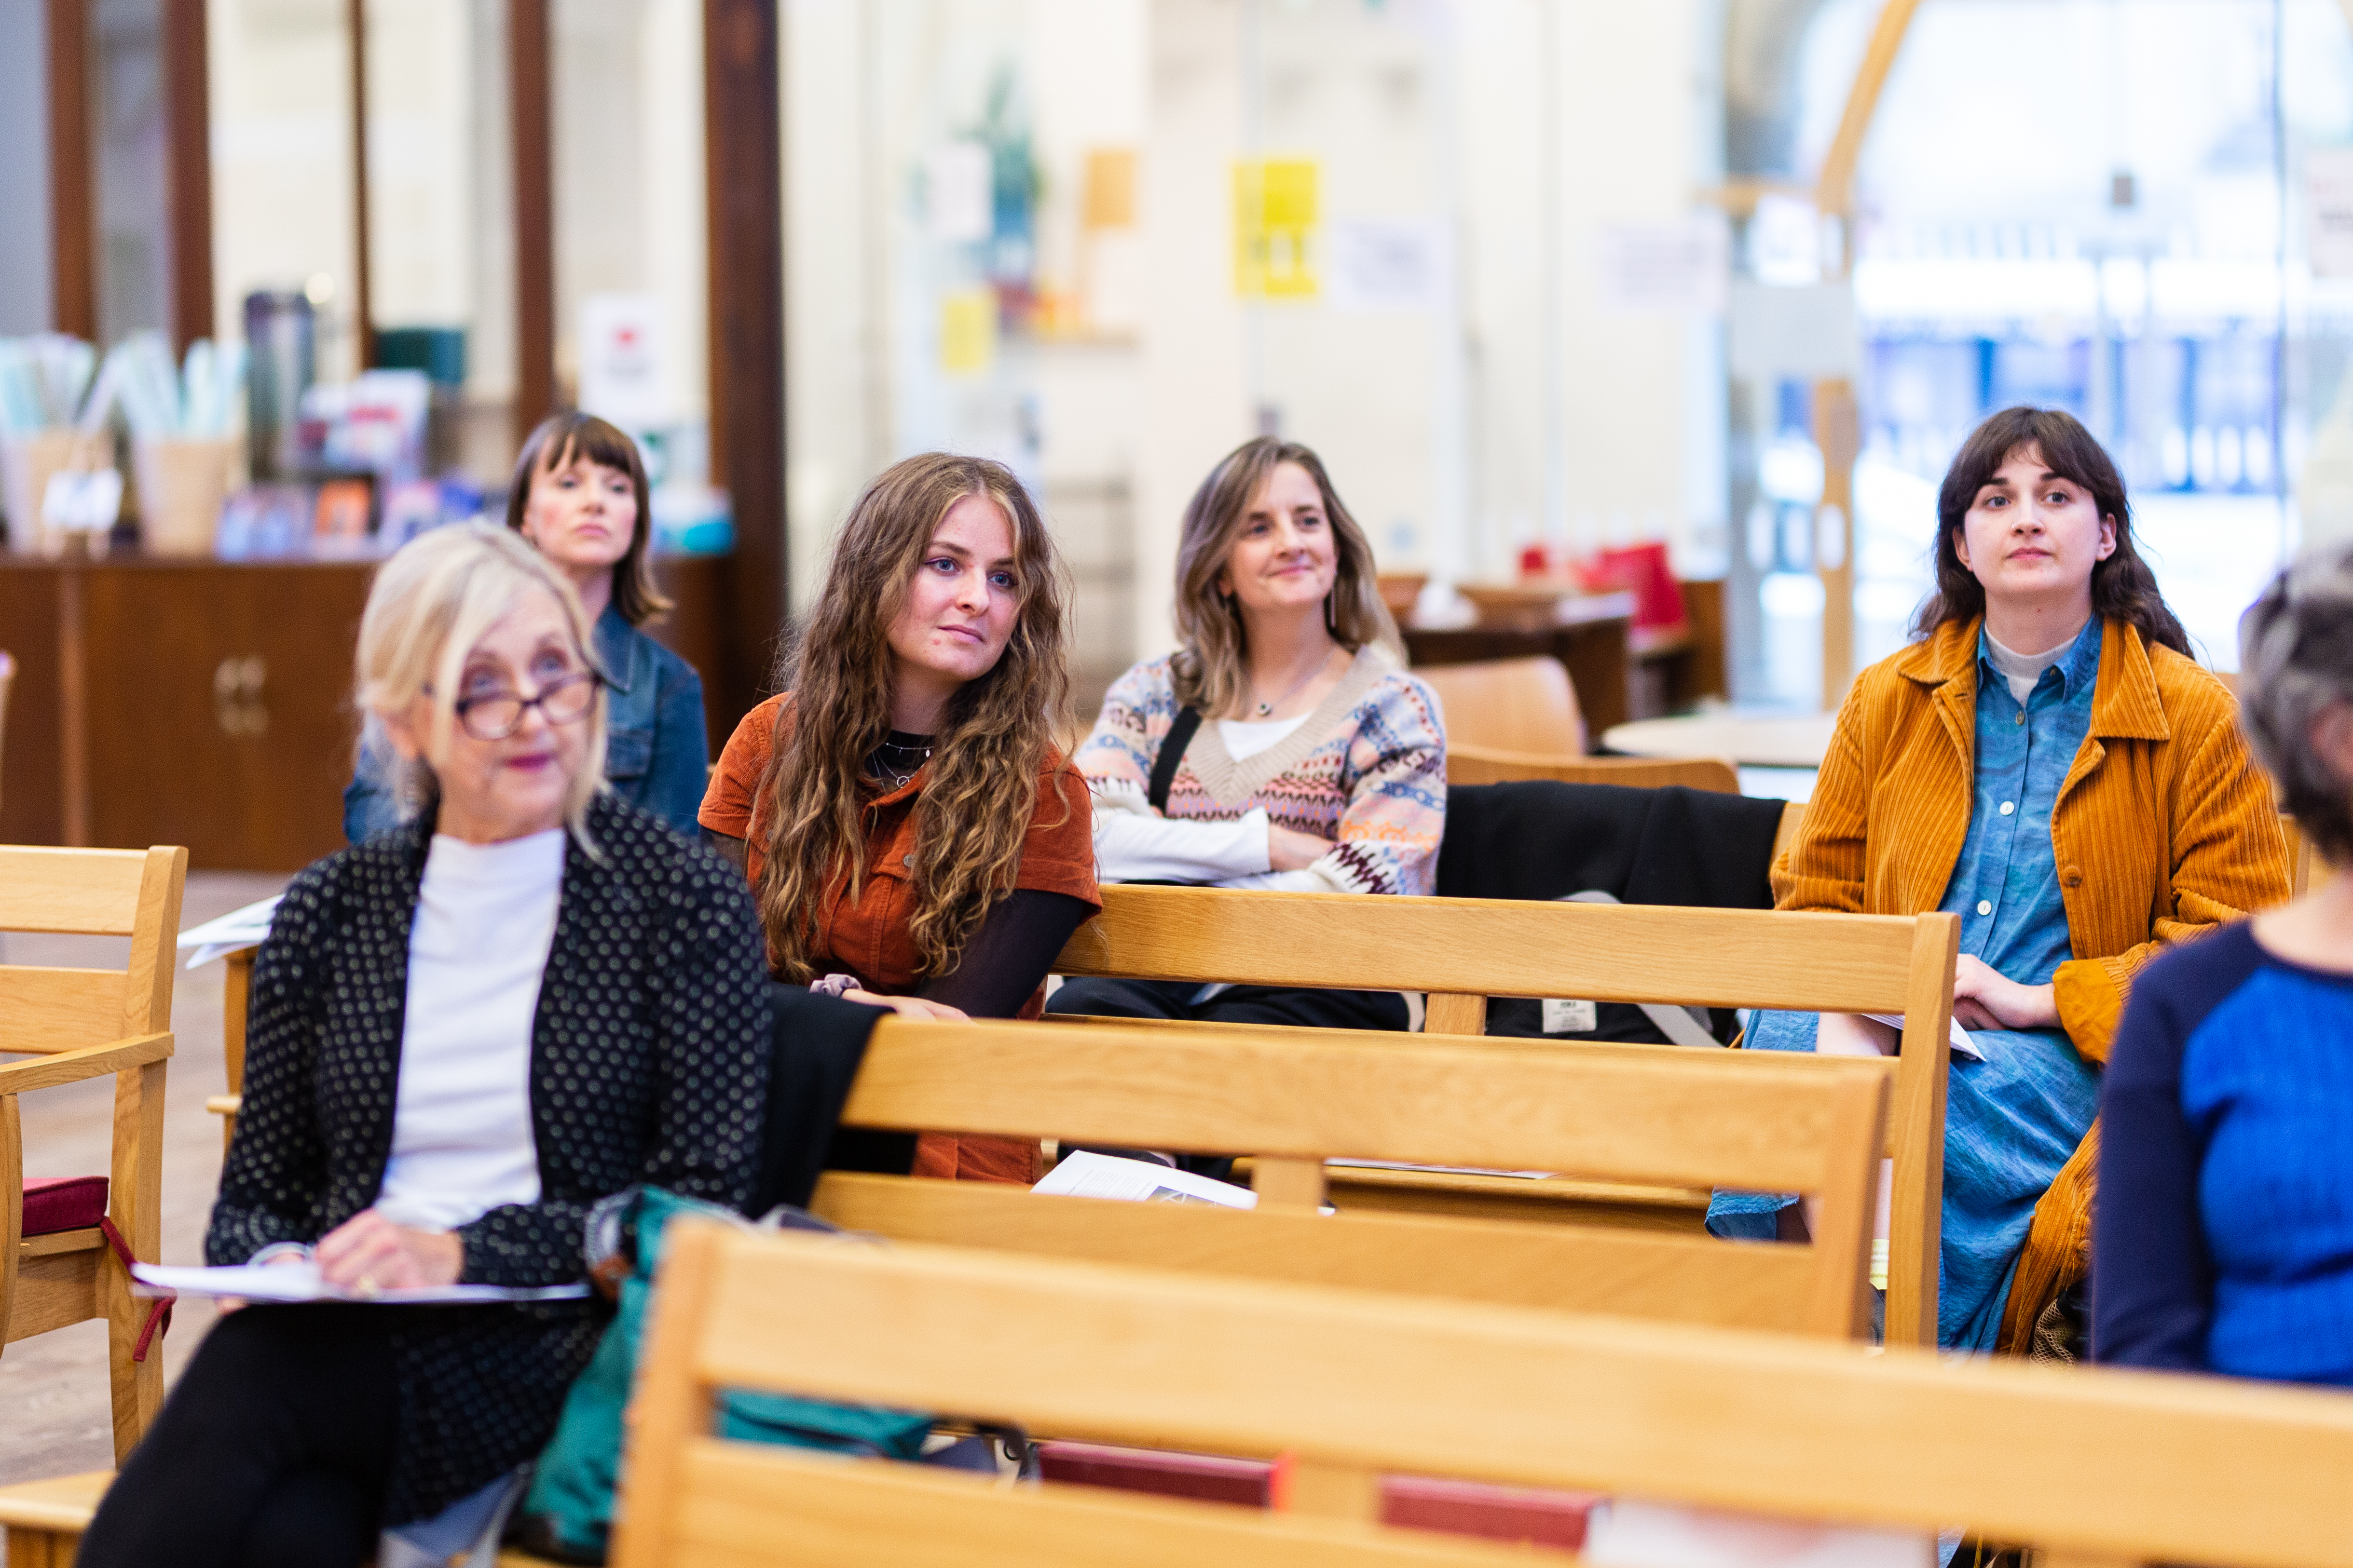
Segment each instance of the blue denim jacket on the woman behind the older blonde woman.
M704 679L609 604L591 639L605 672L605 783L628 804L694 837L694 813L711 773ZM369 729L344 785L344 837L358 844L398 823L391 755Z

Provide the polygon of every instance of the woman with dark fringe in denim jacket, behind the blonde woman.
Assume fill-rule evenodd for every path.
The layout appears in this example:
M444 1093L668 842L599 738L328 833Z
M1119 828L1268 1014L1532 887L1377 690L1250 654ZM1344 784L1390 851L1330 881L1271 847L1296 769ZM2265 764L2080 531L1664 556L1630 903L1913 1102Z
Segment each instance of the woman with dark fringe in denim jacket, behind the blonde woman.
M588 611L605 675L605 783L633 806L696 837L694 813L711 773L704 682L678 654L645 635L671 602L654 588L647 548L654 510L638 442L595 414L555 414L515 458L506 527L546 555ZM344 837L376 837L419 802L398 797L391 748L369 726L344 788Z

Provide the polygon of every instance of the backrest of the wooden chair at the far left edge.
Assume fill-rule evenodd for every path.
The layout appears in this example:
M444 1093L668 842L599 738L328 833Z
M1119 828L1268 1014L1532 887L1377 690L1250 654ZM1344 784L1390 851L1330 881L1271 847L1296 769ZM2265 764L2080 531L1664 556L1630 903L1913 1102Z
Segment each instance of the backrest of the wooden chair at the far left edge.
M0 1051L167 1032L186 879L186 849L0 846L0 931L132 938L122 969L0 964Z

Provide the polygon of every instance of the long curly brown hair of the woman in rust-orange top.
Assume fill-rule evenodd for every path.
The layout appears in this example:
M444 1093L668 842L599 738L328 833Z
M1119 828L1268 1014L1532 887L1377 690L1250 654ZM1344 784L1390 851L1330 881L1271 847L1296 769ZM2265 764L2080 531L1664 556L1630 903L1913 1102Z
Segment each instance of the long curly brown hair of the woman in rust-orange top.
M922 973L955 969L988 907L1012 891L1038 802L1038 776L1068 724L1064 658L1068 585L1054 541L1021 482L1002 463L932 451L882 470L833 543L826 585L786 651L776 745L760 776L767 823L760 851L760 922L786 980L816 971L814 910L847 875L866 872L866 755L889 733L889 625L922 564L932 531L965 496L986 496L1014 534L1021 609L995 668L965 682L932 741L915 804L915 910ZM791 736L784 733L791 715Z

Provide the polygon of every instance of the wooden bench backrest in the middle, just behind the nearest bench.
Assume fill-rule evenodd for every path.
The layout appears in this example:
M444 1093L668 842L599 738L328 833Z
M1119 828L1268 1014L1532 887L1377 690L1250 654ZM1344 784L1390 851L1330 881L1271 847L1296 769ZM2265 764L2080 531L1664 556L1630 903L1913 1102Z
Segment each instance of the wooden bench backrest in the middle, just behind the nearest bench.
M828 1173L845 1229L1551 1309L1859 1338L1889 1072L1718 1051L1525 1051L1259 1027L875 1025L842 1121L1254 1154L1254 1211ZM1819 1194L1807 1246L1322 1215L1325 1159Z

